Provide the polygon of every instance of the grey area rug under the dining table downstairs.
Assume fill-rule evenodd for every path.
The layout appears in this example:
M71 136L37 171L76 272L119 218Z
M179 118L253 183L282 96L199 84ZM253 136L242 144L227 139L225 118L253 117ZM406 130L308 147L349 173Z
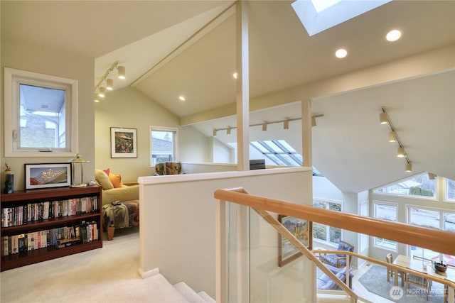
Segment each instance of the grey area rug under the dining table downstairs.
M405 287L401 287L401 280L398 278L398 287L394 287L394 278L387 282L387 269L381 265L373 265L365 272L358 281L369 291L378 294L381 297L390 299L392 302L400 303L417 303L417 302L434 302L440 303L444 300L443 285L433 282L432 288L428 295L425 290L419 287L410 286L409 292ZM392 289L393 287L393 289Z

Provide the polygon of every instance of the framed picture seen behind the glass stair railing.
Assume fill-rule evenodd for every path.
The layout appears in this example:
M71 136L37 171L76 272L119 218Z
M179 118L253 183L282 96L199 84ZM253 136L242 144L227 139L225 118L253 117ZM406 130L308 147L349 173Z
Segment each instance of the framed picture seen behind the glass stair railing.
M288 231L290 231L299 241L308 249L312 249L313 244L313 224L311 221L294 218L293 216L284 216L280 214L278 221ZM296 260L301 256L301 252L293 246L287 238L278 234L278 266L282 267L287 263Z

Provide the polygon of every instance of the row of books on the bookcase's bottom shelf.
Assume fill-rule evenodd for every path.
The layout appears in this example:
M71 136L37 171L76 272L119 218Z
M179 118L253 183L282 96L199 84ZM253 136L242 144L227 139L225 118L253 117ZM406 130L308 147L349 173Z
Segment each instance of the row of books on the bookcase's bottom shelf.
M97 222L85 222L1 237L1 255L14 255L41 248L64 248L100 239Z

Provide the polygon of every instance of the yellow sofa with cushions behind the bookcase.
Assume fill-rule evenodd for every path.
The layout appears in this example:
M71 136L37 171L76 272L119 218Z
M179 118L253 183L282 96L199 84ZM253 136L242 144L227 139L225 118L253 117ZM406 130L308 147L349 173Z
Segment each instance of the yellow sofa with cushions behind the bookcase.
M95 169L95 181L100 185L102 204L111 202L126 202L139 200L139 185L126 185L122 182L122 176L109 170Z

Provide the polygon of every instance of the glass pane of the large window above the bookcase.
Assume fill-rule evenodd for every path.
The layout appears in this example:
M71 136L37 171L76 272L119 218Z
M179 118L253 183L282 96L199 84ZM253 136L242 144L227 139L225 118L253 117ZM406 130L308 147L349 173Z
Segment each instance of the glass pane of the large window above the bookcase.
M19 148L65 148L65 90L19 84L19 99Z

